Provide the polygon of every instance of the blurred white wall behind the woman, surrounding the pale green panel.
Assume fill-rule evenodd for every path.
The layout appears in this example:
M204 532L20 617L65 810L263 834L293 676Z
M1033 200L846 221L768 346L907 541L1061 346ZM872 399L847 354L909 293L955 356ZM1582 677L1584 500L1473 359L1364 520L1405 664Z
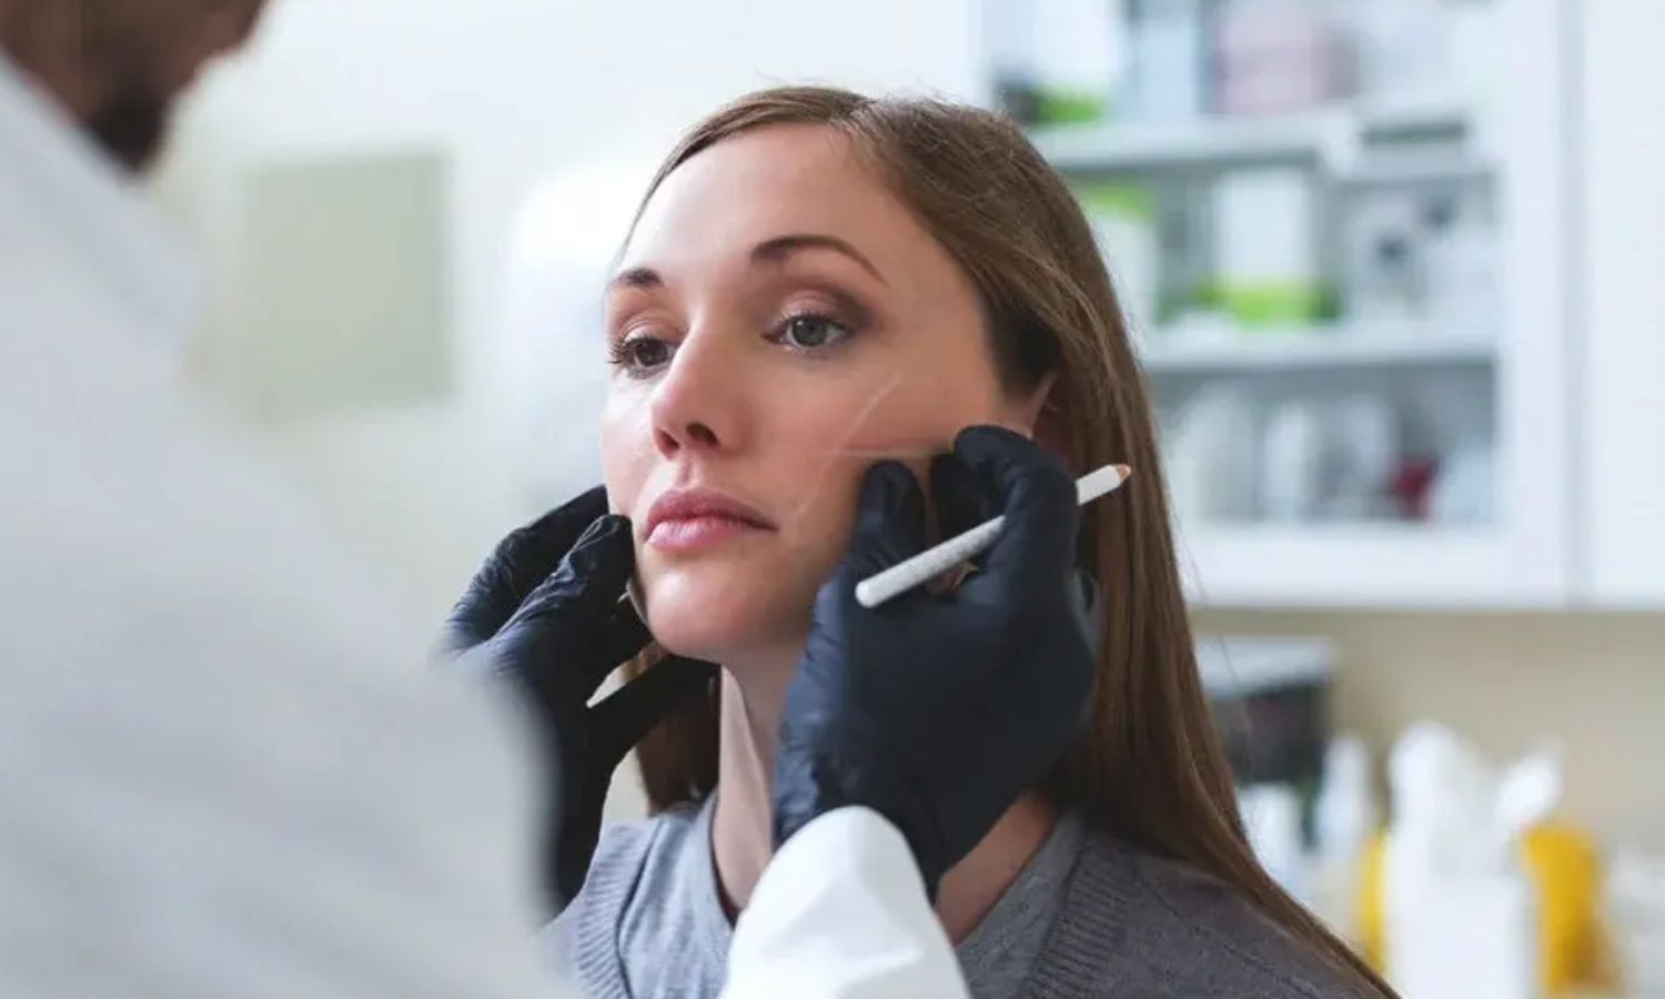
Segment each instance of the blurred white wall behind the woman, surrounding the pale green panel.
M265 430L275 450L328 491L331 506L438 594L456 586L458 573L466 576L508 521L543 500L528 493L528 470L516 468L526 463L516 421L549 358L536 370L523 363L524 316L519 340L504 336L501 308L516 210L539 181L564 170L594 183L609 163L639 173L701 113L776 82L974 98L982 80L972 7L276 0L253 48L216 70L188 108L158 188L216 258L216 286L230 290L215 310L223 330L236 321L235 288L245 278L233 248L240 178L251 163L390 150L448 155L456 398L421 411ZM544 233L561 228L563 208L583 205L588 195L576 190L591 188L564 200L546 191ZM581 225L604 228L593 215ZM621 235L584 233L584 245L613 246ZM210 326L203 358L213 356L213 341ZM556 383L551 375L541 391L566 405L571 430L564 441L544 438L539 446L549 453L539 461L583 463L593 380ZM533 486L551 478L561 476L531 475Z

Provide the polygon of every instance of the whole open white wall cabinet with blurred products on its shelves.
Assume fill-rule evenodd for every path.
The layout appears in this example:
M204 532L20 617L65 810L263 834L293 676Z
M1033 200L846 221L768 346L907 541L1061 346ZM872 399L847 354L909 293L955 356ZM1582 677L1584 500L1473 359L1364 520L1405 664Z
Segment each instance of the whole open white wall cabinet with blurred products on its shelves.
M1087 8L992 62L1149 331L1195 603L1565 604L1563 12L1141 2L1117 55Z

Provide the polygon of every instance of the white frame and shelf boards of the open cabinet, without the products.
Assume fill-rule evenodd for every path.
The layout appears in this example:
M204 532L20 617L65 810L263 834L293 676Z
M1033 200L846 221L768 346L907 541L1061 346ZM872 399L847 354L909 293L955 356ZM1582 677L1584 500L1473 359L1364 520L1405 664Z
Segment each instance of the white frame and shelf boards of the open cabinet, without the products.
M1069 176L1172 183L1262 165L1310 170L1324 198L1374 188L1485 185L1495 211L1498 306L1484 320L1312 330L1156 330L1141 363L1159 400L1185 405L1229 381L1275 405L1372 386L1459 415L1485 435L1490 513L1480 521L1179 523L1192 598L1214 606L1565 606L1575 591L1575 486L1545 470L1573 456L1567 328L1568 0L1497 3L1497 58L1530 65L1485 100L1424 93L1274 118L1192 118L1044 128L1037 148ZM1190 181L1185 181L1190 183ZM1117 265L1112 255L1111 271ZM1492 315L1495 313L1495 315ZM1444 393L1444 398L1435 400ZM1434 401L1430 401L1434 400ZM1479 413L1479 416L1475 416ZM1665 574L1665 568L1662 568Z

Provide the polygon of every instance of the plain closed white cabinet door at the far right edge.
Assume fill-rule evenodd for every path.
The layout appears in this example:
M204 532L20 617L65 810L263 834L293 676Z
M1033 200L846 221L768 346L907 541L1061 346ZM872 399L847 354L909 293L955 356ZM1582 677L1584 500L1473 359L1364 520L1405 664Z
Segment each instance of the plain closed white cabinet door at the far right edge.
M1665 5L1582 5L1582 589L1665 604Z

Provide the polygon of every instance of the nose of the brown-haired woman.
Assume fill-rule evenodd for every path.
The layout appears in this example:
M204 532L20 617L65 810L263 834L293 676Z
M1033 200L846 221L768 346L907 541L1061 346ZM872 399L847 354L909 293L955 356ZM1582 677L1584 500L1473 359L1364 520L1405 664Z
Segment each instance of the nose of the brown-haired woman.
M653 393L653 443L666 458L739 445L734 388L744 378L711 335L689 333Z

